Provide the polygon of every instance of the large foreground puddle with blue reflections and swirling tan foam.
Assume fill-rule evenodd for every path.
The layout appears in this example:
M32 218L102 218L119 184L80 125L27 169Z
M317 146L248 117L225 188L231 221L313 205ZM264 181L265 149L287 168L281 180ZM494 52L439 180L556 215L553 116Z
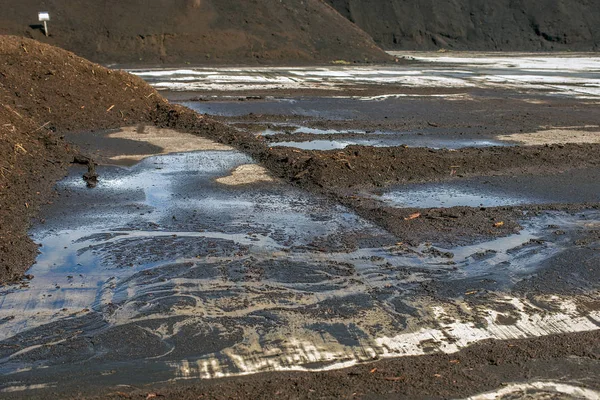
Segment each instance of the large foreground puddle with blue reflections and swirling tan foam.
M61 181L32 230L42 244L33 278L0 289L3 387L81 370L112 384L320 370L597 328L588 317L598 311L584 316L577 297L503 293L560 264L598 229L598 211L411 248L286 185L218 183L248 164L201 151L101 167L93 190L78 170ZM485 303L465 301L484 293Z

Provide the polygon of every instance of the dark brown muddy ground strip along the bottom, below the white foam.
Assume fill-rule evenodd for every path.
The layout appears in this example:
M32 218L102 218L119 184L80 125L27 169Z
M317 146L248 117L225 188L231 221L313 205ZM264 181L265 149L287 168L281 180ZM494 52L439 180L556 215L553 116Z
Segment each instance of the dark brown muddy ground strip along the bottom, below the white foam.
M600 382L590 376L598 370L600 338L597 332L550 336L534 340L490 341L451 355L404 357L368 363L332 372L277 372L234 379L213 379L201 384L178 381L162 386L122 386L107 390L90 386L85 377L42 397L94 399L431 399L466 398L474 393L494 392L511 382L565 379L588 387ZM565 375L565 371L566 375ZM98 391L101 394L98 394ZM518 387L507 398L577 399L556 392ZM94 394L95 393L95 394ZM32 392L30 398L37 398ZM46 397L44 397L46 396ZM11 398L8 395L6 398ZM22 398L16 396L16 398Z

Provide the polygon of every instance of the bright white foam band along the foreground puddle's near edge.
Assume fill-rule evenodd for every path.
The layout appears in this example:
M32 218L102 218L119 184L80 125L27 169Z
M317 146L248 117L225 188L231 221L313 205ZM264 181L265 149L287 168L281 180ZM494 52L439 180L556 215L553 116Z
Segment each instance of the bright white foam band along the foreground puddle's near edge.
M499 324L497 318L502 314L492 309L479 309L478 315L483 315L485 322L477 324L455 319L443 305L439 305L430 310L434 318L440 321L438 327L403 332L393 337L360 340L360 346L341 345L330 340L327 334L315 335L312 340L291 336L279 347L271 343L268 348L262 348L260 343L255 343L246 347L247 352L243 348L230 348L225 354L202 358L195 363L182 360L169 365L174 370L175 380L211 379L265 371L326 371L375 359L431 354L432 343L435 347L433 352L452 354L488 339L523 339L598 330L598 325L592 320L600 318L600 311L582 316L573 312L577 306L571 299L551 296L545 300L552 301L557 311L541 310L524 299L504 297L503 302L519 310L513 325ZM466 303L463 308L471 309ZM235 366L233 370L231 365Z

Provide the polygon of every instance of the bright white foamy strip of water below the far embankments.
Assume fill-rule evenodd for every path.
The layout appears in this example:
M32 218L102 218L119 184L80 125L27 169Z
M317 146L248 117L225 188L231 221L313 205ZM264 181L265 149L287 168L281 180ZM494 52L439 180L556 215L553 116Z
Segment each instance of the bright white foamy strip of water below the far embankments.
M552 56L521 53L503 56L496 53L392 54L407 56L421 65L194 68L130 72L148 79L158 89L174 91L342 90L362 85L395 85L440 89L493 87L580 99L600 97L600 74L594 76L600 72L600 57L596 56L563 53ZM549 91L549 88L554 88L554 91ZM449 96L446 98L453 99Z

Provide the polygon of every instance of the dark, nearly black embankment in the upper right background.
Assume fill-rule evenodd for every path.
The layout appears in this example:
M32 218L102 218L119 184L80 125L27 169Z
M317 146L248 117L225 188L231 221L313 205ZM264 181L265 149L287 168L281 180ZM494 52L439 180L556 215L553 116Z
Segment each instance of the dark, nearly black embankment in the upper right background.
M326 1L388 50L600 48L600 11L594 1Z

